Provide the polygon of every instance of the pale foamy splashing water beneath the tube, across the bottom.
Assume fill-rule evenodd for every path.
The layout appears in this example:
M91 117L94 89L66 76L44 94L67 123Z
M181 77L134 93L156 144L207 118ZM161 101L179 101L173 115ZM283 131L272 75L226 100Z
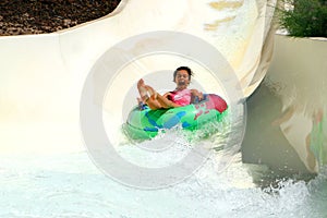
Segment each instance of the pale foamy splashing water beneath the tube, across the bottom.
M268 166L244 164L237 137L231 134L242 131L231 129L229 123L227 119L208 124L207 128L220 130L209 137L204 137L206 129L196 134L189 132L186 137L177 129L153 141L133 144L124 138L116 145L124 160L159 170L190 152L190 136L194 136L193 143L210 150L206 161L190 177L150 190L113 180L104 173L89 150L2 154L0 217L327 217L326 170L318 175L284 177L272 173ZM155 147L158 150L147 149Z

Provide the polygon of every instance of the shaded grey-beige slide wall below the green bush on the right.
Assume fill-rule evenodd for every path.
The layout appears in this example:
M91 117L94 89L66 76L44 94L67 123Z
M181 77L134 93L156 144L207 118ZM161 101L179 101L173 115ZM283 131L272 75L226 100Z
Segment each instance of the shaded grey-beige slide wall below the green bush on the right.
M318 172L327 164L327 40L275 36L265 80L247 99L243 161Z

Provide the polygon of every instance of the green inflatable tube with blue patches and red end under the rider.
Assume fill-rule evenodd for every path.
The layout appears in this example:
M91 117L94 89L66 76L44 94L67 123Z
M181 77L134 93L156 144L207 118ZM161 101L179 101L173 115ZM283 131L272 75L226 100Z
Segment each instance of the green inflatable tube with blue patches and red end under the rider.
M174 126L194 131L205 123L221 121L227 113L227 102L215 94L204 96L199 102L179 108L152 110L137 106L129 113L124 132L132 140L147 140Z

